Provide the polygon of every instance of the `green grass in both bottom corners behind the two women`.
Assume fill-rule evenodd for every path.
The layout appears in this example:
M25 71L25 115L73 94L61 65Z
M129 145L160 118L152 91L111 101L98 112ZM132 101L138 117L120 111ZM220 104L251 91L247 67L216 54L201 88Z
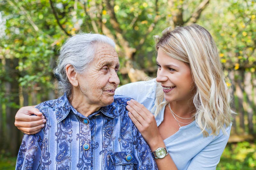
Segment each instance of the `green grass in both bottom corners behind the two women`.
M15 169L16 157L0 154L0 169ZM256 144L249 142L228 143L216 170L256 169Z

